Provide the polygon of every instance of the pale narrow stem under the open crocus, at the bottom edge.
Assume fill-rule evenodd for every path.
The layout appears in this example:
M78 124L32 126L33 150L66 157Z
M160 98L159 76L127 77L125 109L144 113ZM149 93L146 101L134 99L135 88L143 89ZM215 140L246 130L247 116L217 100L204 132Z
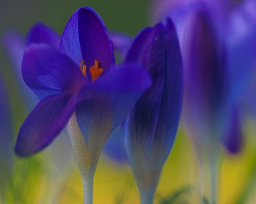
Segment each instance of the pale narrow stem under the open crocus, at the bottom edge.
M93 176L82 176L83 204L93 203Z

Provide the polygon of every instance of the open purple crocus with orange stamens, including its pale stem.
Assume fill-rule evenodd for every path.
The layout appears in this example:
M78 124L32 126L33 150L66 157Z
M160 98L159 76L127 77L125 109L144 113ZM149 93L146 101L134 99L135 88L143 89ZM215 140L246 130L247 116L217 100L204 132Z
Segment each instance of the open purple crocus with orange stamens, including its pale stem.
M16 153L27 157L44 149L67 124L83 180L84 203L92 203L101 149L151 85L149 75L134 63L115 68L109 33L89 7L72 15L59 51L31 44L24 54L22 73L40 101L20 127Z

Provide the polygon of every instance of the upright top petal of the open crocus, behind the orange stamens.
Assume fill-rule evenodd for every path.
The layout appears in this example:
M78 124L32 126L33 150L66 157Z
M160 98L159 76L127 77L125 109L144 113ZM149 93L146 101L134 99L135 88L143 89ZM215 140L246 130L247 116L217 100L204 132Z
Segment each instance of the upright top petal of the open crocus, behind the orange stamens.
M60 52L69 56L77 65L84 60L88 67L98 60L105 74L115 65L113 45L106 27L98 14L89 7L77 10L63 31ZM91 80L90 69L87 75Z

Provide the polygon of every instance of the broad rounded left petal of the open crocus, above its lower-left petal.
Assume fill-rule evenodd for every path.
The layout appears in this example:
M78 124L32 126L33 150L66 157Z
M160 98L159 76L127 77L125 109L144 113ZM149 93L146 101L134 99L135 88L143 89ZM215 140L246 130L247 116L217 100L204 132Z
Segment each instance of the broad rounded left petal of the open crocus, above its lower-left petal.
M73 61L45 44L32 44L27 48L22 74L25 83L39 98L76 93L86 82Z

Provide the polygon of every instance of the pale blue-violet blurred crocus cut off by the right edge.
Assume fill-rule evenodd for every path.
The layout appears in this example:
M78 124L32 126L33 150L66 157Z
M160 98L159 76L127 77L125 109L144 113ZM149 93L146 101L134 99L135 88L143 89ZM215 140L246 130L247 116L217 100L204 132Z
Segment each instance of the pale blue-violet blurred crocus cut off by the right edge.
M246 116L256 118L256 2L244 1L228 18L227 65L233 96Z

